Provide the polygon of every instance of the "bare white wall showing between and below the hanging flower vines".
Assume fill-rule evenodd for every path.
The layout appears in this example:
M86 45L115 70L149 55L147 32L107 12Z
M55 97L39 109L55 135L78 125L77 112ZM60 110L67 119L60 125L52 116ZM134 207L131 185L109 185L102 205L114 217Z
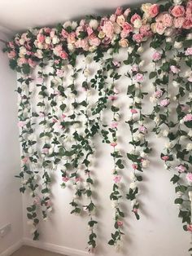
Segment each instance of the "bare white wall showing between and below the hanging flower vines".
M123 54L123 56L125 56ZM150 55L146 55L146 68L149 68ZM147 86L147 82L145 86ZM119 104L123 107L126 119L129 112L126 95L127 82L123 79L118 82L120 87ZM150 89L148 87L148 89ZM146 104L146 111L150 113L151 104ZM130 150L129 128L124 125L120 129L120 148ZM164 170L164 164L159 160L160 152L164 148L164 140L151 137L151 146L154 152L151 155L151 166L143 174L144 182L141 183L139 199L142 204L141 220L137 221L131 214L129 201L124 200L123 207L126 214L124 224L124 250L117 254L113 247L107 245L113 228L113 212L109 195L112 188L113 169L110 157L111 148L95 139L97 148L97 159L94 161L94 179L98 181L94 190L97 194L96 205L98 205L98 251L99 256L187 256L190 247L190 235L182 230L181 219L177 217L177 206L173 204L175 196L174 188L169 180L172 174ZM129 180L129 165L124 169L124 175ZM41 223L40 243L33 244L44 246L45 243L68 247L71 249L85 250L87 243L87 220L85 216L74 216L70 214L72 191L70 188L60 188L60 173L55 174L56 182L53 185L54 212L50 214L50 220ZM28 199L26 199L28 201ZM85 218L84 218L85 217ZM25 222L26 223L26 222ZM28 226L24 223L24 236L30 239ZM44 243L44 245L42 244ZM47 245L49 247L49 245ZM51 247L53 249L53 247ZM60 248L60 247L58 247ZM60 248L60 251L62 248ZM67 251L65 251L67 252ZM81 255L84 255L83 253Z

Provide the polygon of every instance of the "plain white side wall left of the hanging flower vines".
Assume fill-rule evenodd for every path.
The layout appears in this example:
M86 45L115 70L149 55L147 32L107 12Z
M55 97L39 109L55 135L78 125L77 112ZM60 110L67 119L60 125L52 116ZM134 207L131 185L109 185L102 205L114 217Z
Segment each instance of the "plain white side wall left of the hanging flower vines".
M0 38L7 39L0 32ZM2 43L1 43L2 49ZM20 181L20 147L17 129L16 73L8 65L7 55L0 51L0 227L11 223L11 231L0 237L0 254L21 241L23 236Z

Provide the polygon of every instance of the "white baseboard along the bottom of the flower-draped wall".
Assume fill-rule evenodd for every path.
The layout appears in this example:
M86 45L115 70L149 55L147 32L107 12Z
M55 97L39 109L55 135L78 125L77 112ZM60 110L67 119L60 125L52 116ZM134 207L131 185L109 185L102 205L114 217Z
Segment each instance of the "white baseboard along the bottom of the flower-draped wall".
M46 250L49 250L49 251L57 253L57 254L64 254L64 255L68 255L68 256L88 256L88 255L90 255L89 253L87 253L83 250L80 250L80 249L72 249L72 248L61 246L61 245L45 243L42 241L41 242L33 241L28 238L24 238L23 245L33 246L33 247L37 247L39 249L46 249ZM0 256L7 256L7 255L0 255Z

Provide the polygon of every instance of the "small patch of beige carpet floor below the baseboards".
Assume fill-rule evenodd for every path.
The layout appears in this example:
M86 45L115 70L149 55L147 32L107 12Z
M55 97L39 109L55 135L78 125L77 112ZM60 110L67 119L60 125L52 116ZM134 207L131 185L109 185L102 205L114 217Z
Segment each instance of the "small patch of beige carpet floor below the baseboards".
M51 253L44 249L37 249L30 246L22 246L11 256L63 256L63 254Z

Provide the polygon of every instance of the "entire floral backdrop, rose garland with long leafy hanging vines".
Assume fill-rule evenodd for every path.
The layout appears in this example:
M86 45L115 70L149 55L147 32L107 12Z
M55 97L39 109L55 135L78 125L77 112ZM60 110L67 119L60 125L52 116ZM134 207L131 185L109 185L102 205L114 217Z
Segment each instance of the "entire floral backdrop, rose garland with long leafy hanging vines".
M119 249L127 215L122 202L131 201L135 217L142 217L139 192L153 150L151 133L167 139L159 157L172 171L183 228L192 232L191 29L192 1L146 3L136 9L119 7L110 16L29 29L7 43L10 66L20 73L22 152L17 177L20 192L28 190L31 196L27 216L34 240L39 238L40 219L46 220L54 207L51 183L57 170L61 188L72 186L71 214L83 211L89 217L88 250L94 252L99 223L92 162L98 154L94 141L102 139L113 161L109 196L114 232L108 244ZM149 47L151 63L145 64ZM150 91L146 82L151 83ZM145 110L149 104L151 113ZM124 148L120 126L131 135Z

